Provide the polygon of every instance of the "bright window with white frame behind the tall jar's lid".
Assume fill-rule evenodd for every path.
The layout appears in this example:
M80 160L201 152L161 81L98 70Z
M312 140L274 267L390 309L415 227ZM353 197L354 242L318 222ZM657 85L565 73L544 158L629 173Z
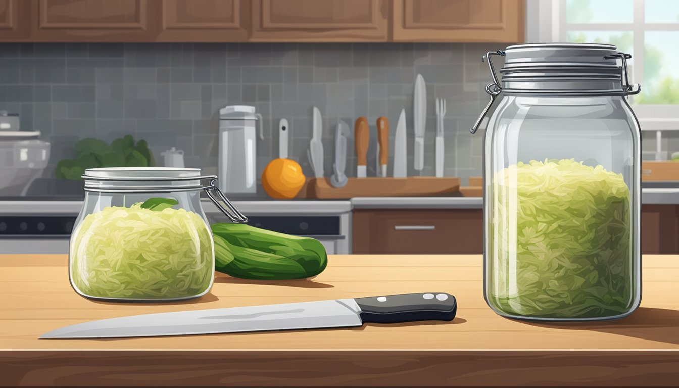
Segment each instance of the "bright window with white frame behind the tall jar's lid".
M527 41L610 43L631 54L627 62L630 82L642 86L641 93L629 99L637 116L641 120L674 119L676 126L678 0L534 0L528 7ZM531 20L539 26L531 28Z

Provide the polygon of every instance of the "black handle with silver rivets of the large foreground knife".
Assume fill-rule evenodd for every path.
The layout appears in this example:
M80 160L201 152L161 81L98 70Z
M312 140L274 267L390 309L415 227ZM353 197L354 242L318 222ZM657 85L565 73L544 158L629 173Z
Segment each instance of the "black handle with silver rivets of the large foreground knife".
M418 292L356 298L364 323L452 321L458 309L455 297L446 292Z

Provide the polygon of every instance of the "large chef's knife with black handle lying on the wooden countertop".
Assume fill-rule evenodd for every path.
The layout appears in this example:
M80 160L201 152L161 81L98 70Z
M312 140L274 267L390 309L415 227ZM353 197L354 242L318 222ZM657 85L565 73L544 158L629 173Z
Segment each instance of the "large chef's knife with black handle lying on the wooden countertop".
M66 326L40 338L185 336L345 328L369 322L452 321L456 310L454 296L428 292L134 315Z

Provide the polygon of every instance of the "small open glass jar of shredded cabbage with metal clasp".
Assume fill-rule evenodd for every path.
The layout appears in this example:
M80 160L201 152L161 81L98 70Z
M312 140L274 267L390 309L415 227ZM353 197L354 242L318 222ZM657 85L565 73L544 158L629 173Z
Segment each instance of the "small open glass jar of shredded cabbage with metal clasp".
M88 298L156 302L202 296L213 285L215 253L200 193L232 222L247 222L215 187L217 177L201 176L200 169L87 169L83 179L85 202L71 234L69 279Z

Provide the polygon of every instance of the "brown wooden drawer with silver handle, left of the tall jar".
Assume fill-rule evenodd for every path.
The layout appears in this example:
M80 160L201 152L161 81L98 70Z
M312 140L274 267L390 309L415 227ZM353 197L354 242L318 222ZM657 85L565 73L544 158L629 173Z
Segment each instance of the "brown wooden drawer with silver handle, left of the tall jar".
M481 209L356 209L353 217L352 253L483 253Z

